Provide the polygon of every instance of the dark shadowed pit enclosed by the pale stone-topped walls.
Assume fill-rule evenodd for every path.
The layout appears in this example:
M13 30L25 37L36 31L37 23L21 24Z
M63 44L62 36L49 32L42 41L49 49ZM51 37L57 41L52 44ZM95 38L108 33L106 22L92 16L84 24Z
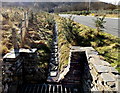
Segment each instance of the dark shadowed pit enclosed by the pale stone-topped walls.
M88 72L89 66L85 52L71 52L70 69L61 83L73 88L77 93L89 91L86 83L84 83L87 81Z

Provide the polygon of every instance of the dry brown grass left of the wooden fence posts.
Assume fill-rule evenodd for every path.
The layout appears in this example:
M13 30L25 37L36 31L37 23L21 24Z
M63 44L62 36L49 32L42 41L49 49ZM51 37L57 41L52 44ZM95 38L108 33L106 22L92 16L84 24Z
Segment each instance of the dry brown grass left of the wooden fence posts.
M18 9L2 9L2 12L0 13L0 19L2 22L2 29L0 29L0 35L1 35L1 41L2 44L0 54L6 54L13 48L12 45L12 32L11 28L15 28L16 31L20 30L18 28L18 21L20 21L20 17L22 17L22 13ZM19 44L19 39L18 42Z

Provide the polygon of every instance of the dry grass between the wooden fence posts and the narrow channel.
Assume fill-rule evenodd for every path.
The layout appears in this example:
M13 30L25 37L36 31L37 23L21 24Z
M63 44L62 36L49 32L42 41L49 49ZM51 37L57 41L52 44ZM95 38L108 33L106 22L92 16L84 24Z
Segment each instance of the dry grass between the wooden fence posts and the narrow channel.
M30 47L38 49L38 66L46 70L50 59L53 21L52 15L39 12L35 14L35 20L29 22L29 39L32 39Z

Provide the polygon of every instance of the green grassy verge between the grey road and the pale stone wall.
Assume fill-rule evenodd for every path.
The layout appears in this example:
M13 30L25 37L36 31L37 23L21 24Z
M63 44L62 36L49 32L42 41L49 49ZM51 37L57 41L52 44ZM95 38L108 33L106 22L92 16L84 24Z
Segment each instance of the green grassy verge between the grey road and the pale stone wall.
M69 30L72 29L72 32L75 33L73 34L75 38L74 39L71 38L72 42L67 43L69 47L70 45L79 45L83 47L92 46L98 51L102 59L111 63L112 66L116 66L116 69L120 72L120 59L118 57L120 53L120 44L119 44L120 39L119 38L113 35L110 35L108 33L105 33L105 32L98 32L96 29L92 29L87 26L78 24L69 19L64 19L60 17L58 17L57 19L59 22L59 32L61 33L59 34L59 37L60 35L62 36L62 38L60 38L59 40L61 43L65 41L63 40L65 35L62 35L62 32L63 31L68 32L68 29ZM65 27L65 24L67 24L68 28ZM70 25L72 26L72 28L70 27ZM67 40L65 42L67 42ZM69 47L66 47L66 44L62 46L63 46L61 47L62 50L69 49ZM62 60L64 61L64 64L66 64L66 62L68 62L69 51L66 51L66 53L63 53L63 54L66 57L65 58L63 57Z

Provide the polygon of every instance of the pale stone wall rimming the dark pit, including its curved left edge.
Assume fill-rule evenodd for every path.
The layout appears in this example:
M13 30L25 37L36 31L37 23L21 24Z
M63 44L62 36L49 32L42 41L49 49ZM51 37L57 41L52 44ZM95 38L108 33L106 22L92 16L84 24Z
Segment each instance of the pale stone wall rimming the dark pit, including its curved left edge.
M85 52L88 64L85 66L82 77L84 91L119 91L120 75L115 67L100 59L98 52L92 47L72 46L71 52ZM69 56L71 57L71 56ZM64 71L60 74L60 79L69 72L70 60Z

